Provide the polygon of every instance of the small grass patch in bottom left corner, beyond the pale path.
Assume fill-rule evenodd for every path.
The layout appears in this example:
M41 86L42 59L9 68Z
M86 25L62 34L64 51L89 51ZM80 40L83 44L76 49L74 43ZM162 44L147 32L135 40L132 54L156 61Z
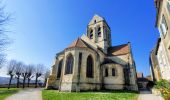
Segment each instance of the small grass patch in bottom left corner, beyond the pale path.
M0 100L4 100L7 96L17 93L18 91L19 89L17 88L10 88L9 90L7 88L0 88Z

